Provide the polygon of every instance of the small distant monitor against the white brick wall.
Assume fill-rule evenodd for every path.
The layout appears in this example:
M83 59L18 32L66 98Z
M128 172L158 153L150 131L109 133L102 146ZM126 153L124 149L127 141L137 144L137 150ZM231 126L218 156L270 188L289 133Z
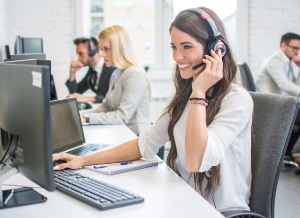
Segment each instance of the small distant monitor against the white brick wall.
M22 38L17 35L15 41L15 54L43 53L42 38Z

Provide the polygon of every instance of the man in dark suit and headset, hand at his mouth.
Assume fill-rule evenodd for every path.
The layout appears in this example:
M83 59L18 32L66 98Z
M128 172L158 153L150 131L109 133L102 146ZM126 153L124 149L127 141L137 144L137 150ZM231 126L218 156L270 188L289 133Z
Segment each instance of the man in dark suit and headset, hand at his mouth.
M95 38L78 38L74 40L78 59L73 60L70 65L70 78L66 82L70 94L67 97L76 97L78 102L101 103L108 90L110 76L115 69L106 67L99 53L98 41ZM77 83L75 80L76 71L83 66L89 66L85 77ZM96 97L81 95L91 89Z

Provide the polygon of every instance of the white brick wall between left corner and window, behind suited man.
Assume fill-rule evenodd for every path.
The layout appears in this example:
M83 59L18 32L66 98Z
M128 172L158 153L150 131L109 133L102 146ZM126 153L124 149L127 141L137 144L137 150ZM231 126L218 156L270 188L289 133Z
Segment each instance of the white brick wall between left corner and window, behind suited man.
M51 71L57 94L59 97L65 97L68 91L64 83L69 76L70 60L74 51L72 0L0 1L0 10L3 5L7 5L7 28L5 29L11 53L14 53L17 35L42 37L44 53L46 58L51 60Z

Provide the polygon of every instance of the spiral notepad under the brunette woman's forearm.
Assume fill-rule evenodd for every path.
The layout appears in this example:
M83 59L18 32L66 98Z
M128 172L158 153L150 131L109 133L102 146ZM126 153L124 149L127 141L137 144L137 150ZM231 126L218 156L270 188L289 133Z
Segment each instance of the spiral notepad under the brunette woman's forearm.
M162 161L146 161L144 159L139 159L136 161L133 161L130 164L127 165L113 165L113 166L107 166L105 168L98 168L95 169L94 166L100 166L100 165L105 165L105 164L99 164L99 165L90 165L90 166L84 166L84 169L89 169L92 171L104 173L107 175L114 175L118 173L123 173L123 172L129 172L133 170L138 170L138 169L144 169L147 167L152 167L152 166L157 166L160 162Z

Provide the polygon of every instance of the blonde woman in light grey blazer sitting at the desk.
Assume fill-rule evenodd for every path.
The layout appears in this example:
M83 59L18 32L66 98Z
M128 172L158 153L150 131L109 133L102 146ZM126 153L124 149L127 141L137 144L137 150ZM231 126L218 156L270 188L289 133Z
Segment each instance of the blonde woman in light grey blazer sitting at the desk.
M102 104L82 111L82 122L126 124L134 133L149 122L150 83L133 52L126 30L112 26L99 34L99 48L107 67L115 66Z

